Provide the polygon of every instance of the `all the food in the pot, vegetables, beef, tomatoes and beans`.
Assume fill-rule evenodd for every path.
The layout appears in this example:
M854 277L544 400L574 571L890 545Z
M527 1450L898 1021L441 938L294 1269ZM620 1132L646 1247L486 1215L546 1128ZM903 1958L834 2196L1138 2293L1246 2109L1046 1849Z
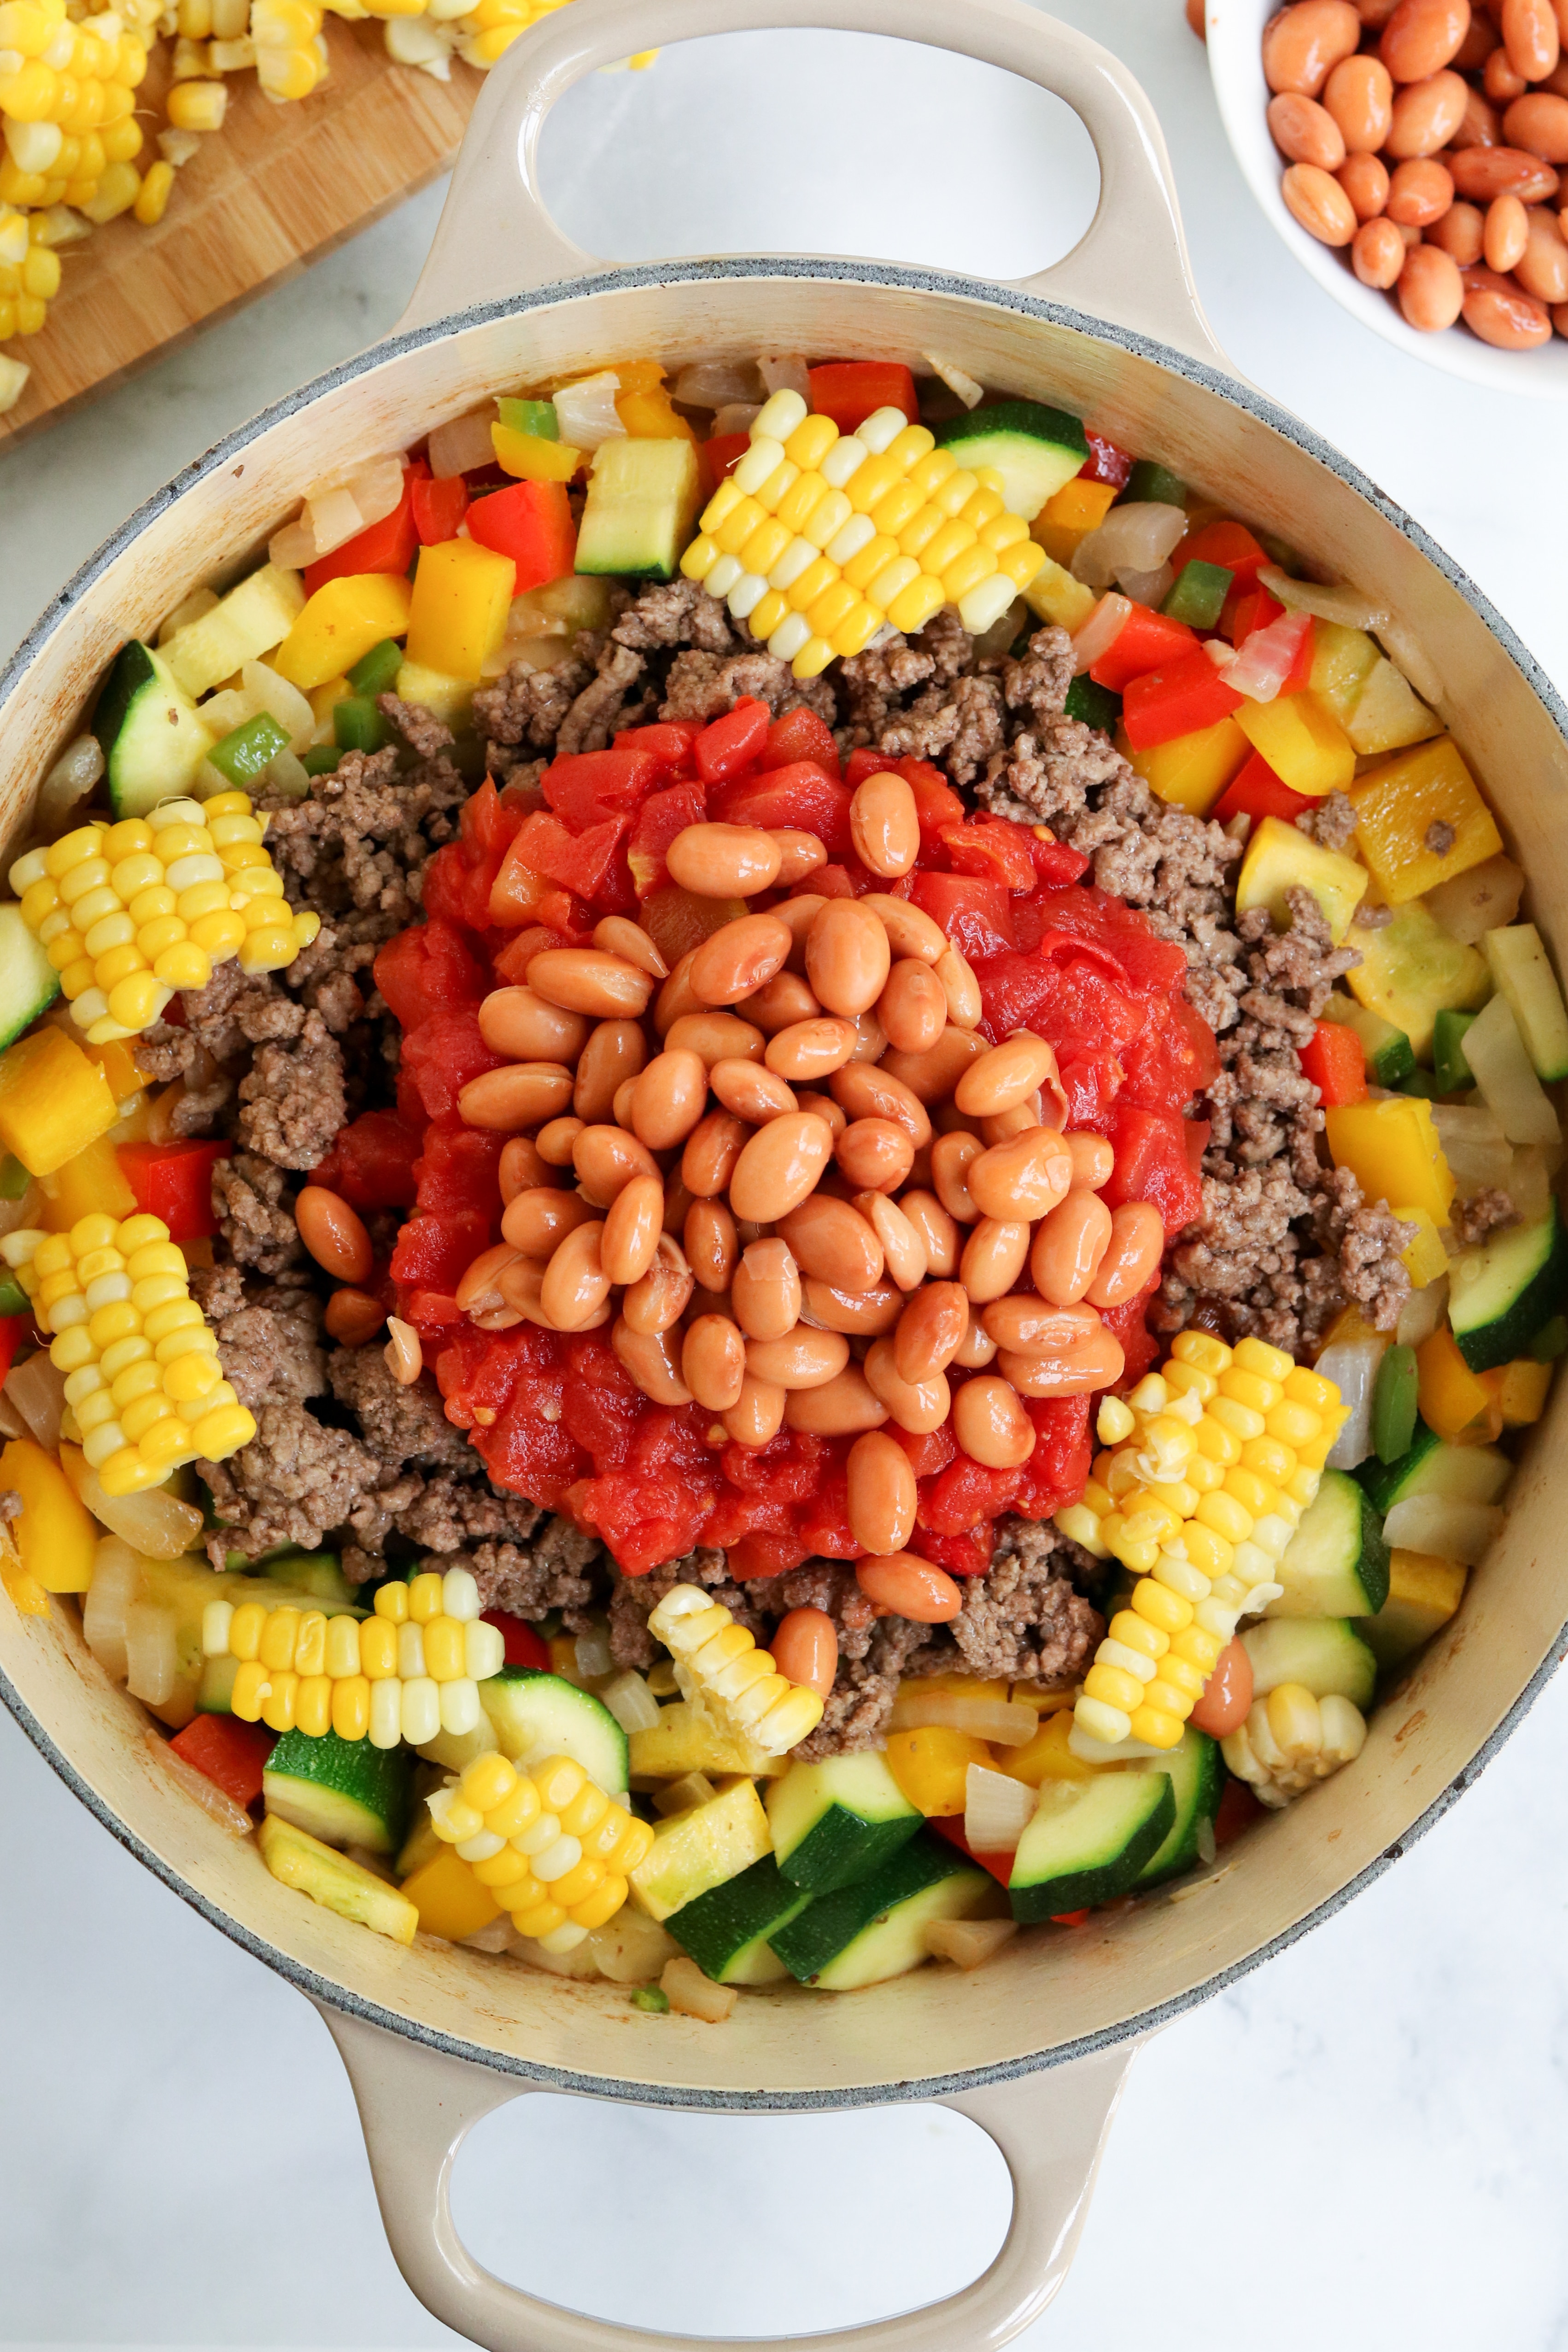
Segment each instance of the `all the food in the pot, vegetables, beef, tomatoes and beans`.
M12 1604L315 1903L710 2020L1352 1764L1568 1345L1420 644L929 367L320 485L0 908Z

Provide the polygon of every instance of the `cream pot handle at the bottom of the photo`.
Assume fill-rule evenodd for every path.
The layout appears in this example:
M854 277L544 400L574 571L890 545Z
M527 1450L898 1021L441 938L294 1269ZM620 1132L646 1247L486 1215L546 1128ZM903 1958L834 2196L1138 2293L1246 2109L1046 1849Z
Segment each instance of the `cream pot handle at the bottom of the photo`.
M663 2336L543 2303L484 2270L451 2220L451 2166L473 2126L531 2089L447 2058L362 2018L317 2009L348 2067L376 2201L400 2272L437 2319L489 2352L757 2352L778 2338ZM1072 2065L954 2091L943 2107L992 2136L1013 2176L1013 2218L997 2260L957 2296L870 2326L811 2336L813 2352L994 2352L1056 2296L1077 2253L1105 2136L1135 2044Z

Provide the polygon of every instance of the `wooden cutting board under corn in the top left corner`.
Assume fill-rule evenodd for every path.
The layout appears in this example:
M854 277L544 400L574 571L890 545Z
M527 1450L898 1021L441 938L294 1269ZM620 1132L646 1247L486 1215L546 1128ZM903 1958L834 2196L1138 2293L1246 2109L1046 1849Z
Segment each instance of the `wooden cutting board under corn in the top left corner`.
M331 73L296 106L273 106L254 73L228 78L221 132L174 176L158 228L129 214L61 252L63 282L42 334L7 350L33 376L0 416L0 447L183 343L449 169L482 75L395 66L381 24L327 16ZM162 45L162 59L172 42ZM158 158L167 66L139 92L141 167Z

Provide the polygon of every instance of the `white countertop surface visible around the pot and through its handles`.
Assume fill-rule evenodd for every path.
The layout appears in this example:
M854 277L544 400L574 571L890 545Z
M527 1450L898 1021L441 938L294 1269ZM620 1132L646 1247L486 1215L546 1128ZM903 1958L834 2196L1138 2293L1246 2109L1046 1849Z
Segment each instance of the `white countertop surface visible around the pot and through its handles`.
M1403 360L1293 268L1178 0L1060 14L1154 96L1237 367L1420 515L1568 677L1563 414ZM661 176L654 155L689 162ZM545 186L618 259L849 249L1001 275L1072 242L1084 158L1060 108L980 68L790 35L590 82L552 125ZM0 459L0 652L186 459L395 322L437 202ZM1559 1686L1349 1912L1145 2051L1030 2352L1100 2352L1112 2331L1161 2352L1244 2333L1269 2352L1568 2345L1568 1863L1544 1802L1566 1771ZM393 2267L315 2013L139 1870L5 1719L0 1790L2 2338L456 2343ZM458 2171L494 2267L693 2336L947 2293L990 2258L1004 2199L990 2145L940 2110L710 2122L536 2098Z

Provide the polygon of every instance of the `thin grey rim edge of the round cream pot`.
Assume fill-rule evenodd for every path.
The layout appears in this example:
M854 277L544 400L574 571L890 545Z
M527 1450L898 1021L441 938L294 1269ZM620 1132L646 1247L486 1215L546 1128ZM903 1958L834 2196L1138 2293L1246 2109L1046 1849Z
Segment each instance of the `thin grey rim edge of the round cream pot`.
M1041 320L1051 327L1065 327L1072 334L1086 334L1103 343L1114 343L1121 350L1133 353L1140 360L1152 360L1157 367L1187 376L1199 388L1215 393L1229 407L1237 407L1260 423L1269 426L1284 440L1293 442L1305 456L1316 459L1316 463L1331 468L1342 482L1349 485L1361 499L1378 508L1378 513L1396 532L1401 532L1410 546L1418 548L1432 562L1443 579L1458 588L1465 602L1479 614L1486 628L1497 637L1507 656L1526 677L1528 687L1537 701L1552 715L1559 734L1568 741L1568 703L1556 691L1552 680L1544 675L1542 666L1519 640L1514 628L1502 619L1490 597L1469 579L1460 564L1453 562L1443 548L1415 522L1387 492L1361 473L1349 459L1345 459L1333 442L1324 440L1312 426L1300 416L1269 400L1267 393L1244 383L1239 376L1229 376L1204 360L1187 358L1173 350L1168 343L1159 343L1154 336L1138 334L1131 327L1119 327L1107 320L1098 320L1086 310L1077 310L1070 303L1046 301L1023 287L966 278L954 270L924 270L905 263L877 263L877 261L846 261L832 256L724 256L724 259L696 259L696 261L658 261L658 263L635 263L625 268L597 268L581 278L555 280L548 287L536 287L524 294L510 294L489 303L473 303L465 310L456 310L449 318L433 320L425 327L414 327L407 334L390 334L381 343L371 343L367 350L357 353L353 360L339 362L339 367L327 369L327 374L315 376L310 383L284 393L259 416L252 416L235 433L228 433L221 442L205 452L186 466L174 480L165 482L162 489L153 492L122 524L103 541L103 546L87 557L87 562L73 574L73 579L59 590L59 595L45 607L35 626L28 630L16 654L0 670L0 710L14 684L21 680L28 663L42 649L54 628L68 619L71 609L92 588L92 583L115 562L134 539L141 536L148 524L153 524L183 492L193 489L207 475L216 473L233 456L247 449L261 433L270 430L275 423L299 414L310 407L322 395L336 390L339 386L353 383L355 376L367 374L371 367L381 367L388 360L400 360L407 353L421 350L428 343L447 341L470 327L494 325L496 320L512 318L524 310L552 308L562 301L581 301L592 294L611 294L639 287L665 287L665 285L696 285L696 282L722 282L726 278L736 280L759 280L759 278L804 278L804 280L832 280L844 285L877 285L896 287L907 294L945 294L961 301L985 303L992 308L1013 310L1020 318ZM480 2065L491 2074L512 2074L522 2084L538 2091L569 2091L585 2098L616 2100L621 2105L635 2107L675 2107L691 2112L717 2112L717 2114L799 2114L799 2112L825 2112L837 2107L884 2107L907 2100L950 2098L961 2091L980 2091L987 2084L1016 2082L1025 2074L1044 2072L1046 2067L1070 2065L1077 2058L1091 2058L1098 2051L1112 2049L1119 2042L1131 2042L1157 2032L1161 2025L1173 2023L1190 2009L1199 2009L1213 1994L1241 1983L1253 1969L1260 1969L1267 1959L1288 1950L1312 1929L1324 1926L1333 1919L1347 1903L1354 1900L1373 1879L1396 1863L1427 1830L1436 1828L1443 1813L1474 1785L1481 1771L1493 1762L1497 1750L1519 1729L1523 1717L1530 1712L1544 1686L1556 1675L1559 1665L1568 1656L1568 1625L1563 1625L1552 1639L1547 1656L1530 1675L1523 1691L1516 1696L1514 1705L1497 1722L1490 1736L1481 1743L1474 1757L1453 1776L1453 1780L1432 1799L1432 1804L1420 1813L1410 1828L1385 1846L1363 1870L1359 1870L1345 1886L1326 1896L1314 1910L1305 1912L1288 1929L1258 1950L1232 1962L1227 1969L1218 1969L1213 1976L1204 1978L1201 1985L1175 1994L1154 2009L1135 2011L1121 2018L1117 2025L1107 2025L1100 2032L1081 2034L1077 2042L1053 2044L1046 2051L1032 2051L1023 2058L1006 2058L997 2065L966 2067L957 2074L919 2074L907 2077L896 2084L867 2084L837 2091L701 2091L670 2084L646 2084L630 2082L614 2074L578 2074L567 2067L538 2065L527 2058L512 2058L494 2049L484 2049L475 2042L465 2042L456 2034L435 2032L416 2018L402 2016L395 2009L386 2009L378 2002L367 2002L348 1985L329 1983L315 1969L303 1966L277 1945L268 1943L247 1929L233 1912L221 1910L212 1903L197 1886L193 1886L179 1870L162 1860L115 1811L108 1806L99 1792L78 1773L66 1752L59 1748L54 1736L42 1726L42 1722L26 1705L16 1686L9 1682L5 1670L0 1670L0 1700L7 1712L16 1719L21 1731L31 1738L47 1764L59 1773L59 1778L71 1788L75 1797L87 1806L87 1811L110 1832L118 1844L134 1853L146 1870L153 1872L172 1893L176 1893L190 1910L200 1912L219 1933L237 1943L240 1950L249 1952L263 1966L273 1969L275 1976L287 1978L296 1985L310 2002L339 2009L350 2018L360 2018L367 2025L378 2025L383 2032L400 2034L404 2042L423 2044L425 2049L440 2051L447 2058L461 2058L468 2065Z

